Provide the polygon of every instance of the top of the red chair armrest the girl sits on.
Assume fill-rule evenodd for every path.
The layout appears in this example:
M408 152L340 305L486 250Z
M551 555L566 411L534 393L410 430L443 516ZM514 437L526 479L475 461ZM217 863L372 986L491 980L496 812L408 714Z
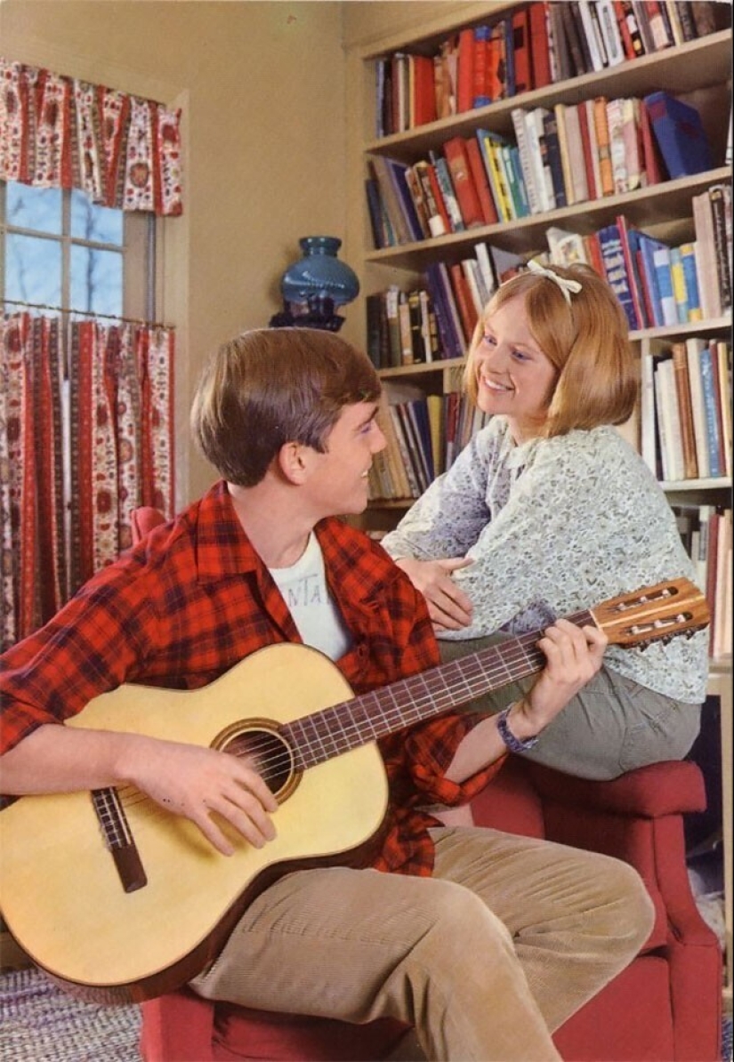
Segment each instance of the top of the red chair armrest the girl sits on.
M651 764L613 778L592 782L541 764L526 761L526 770L541 800L628 818L660 819L666 815L703 811L706 792L701 770L686 760Z

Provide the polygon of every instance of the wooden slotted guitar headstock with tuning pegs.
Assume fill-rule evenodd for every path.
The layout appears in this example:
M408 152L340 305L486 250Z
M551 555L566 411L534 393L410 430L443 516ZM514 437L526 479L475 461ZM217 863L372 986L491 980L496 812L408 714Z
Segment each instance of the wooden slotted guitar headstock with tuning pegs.
M706 599L688 579L671 579L620 594L591 610L611 646L646 646L693 634L709 624Z

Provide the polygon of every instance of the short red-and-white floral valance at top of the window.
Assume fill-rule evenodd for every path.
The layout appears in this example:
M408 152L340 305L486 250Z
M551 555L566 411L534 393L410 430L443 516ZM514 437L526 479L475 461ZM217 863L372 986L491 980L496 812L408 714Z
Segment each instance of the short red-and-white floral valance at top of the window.
M0 178L180 215L180 123L153 100L0 57Z

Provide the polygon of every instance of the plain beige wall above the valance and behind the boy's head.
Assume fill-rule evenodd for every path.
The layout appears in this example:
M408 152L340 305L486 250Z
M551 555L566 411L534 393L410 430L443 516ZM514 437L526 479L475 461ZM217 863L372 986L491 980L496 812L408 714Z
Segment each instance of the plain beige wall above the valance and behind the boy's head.
M279 309L300 236L343 237L341 4L3 0L7 58L184 107L185 216L166 222L165 305L180 329L178 502L212 469L186 421L203 357Z

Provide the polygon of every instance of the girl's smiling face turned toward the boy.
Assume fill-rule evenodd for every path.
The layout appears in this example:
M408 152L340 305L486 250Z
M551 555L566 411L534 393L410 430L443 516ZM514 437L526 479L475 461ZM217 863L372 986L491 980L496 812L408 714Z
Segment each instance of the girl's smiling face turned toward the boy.
M558 373L530 331L523 295L484 319L474 370L482 412L507 416L518 445L541 433Z

